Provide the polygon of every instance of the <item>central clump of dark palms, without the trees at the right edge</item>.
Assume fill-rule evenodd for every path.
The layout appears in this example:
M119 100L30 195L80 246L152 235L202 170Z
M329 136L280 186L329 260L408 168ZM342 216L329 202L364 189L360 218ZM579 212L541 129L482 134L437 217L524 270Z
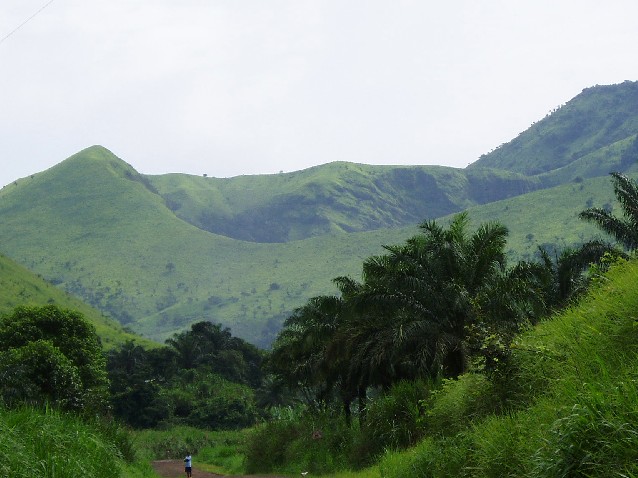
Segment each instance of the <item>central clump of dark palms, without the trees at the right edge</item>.
M308 301L284 323L271 363L297 390L340 397L346 416L366 390L403 379L456 376L466 370L468 330L511 334L542 309L533 268L507 269L507 229L468 231L467 214L448 228L435 221L405 244L363 264L363 282L337 278L340 296Z

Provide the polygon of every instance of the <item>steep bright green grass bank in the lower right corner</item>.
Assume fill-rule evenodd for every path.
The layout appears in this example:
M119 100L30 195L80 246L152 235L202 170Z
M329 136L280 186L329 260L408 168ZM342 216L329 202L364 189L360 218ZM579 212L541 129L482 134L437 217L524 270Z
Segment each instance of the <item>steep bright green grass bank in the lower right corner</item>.
M621 263L578 305L523 334L503 385L509 413L472 420L490 396L448 383L427 437L388 452L382 478L638 476L638 262ZM461 424L465 423L464 426Z

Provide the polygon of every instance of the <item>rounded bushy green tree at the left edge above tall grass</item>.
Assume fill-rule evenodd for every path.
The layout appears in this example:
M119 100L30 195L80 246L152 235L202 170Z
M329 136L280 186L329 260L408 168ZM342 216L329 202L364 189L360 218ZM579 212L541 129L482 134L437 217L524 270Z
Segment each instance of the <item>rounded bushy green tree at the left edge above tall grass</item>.
M99 410L106 404L108 378L106 361L95 328L76 311L54 305L16 307L0 318L2 368L10 380L0 382L3 396L6 384L24 382L24 396L30 400L53 399L69 408ZM9 369L19 358L24 364ZM9 369L9 370L8 370ZM38 392L39 391L39 392Z

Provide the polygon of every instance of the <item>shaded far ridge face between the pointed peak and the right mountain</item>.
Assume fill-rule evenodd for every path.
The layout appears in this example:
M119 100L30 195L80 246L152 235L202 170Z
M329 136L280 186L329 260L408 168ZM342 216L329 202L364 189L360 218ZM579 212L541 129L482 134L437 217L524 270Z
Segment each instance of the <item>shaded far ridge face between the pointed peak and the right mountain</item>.
M504 171L345 162L294 173L219 179L149 176L167 206L206 231L254 242L403 227L535 190Z

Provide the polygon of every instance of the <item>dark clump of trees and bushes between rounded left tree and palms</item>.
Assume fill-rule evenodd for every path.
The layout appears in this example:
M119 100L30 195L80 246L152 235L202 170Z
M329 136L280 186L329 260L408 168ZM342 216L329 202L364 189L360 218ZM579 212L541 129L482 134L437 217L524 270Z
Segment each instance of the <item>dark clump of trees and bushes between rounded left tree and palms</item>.
M199 322L168 346L132 342L108 355L115 415L136 428L188 424L207 429L252 425L259 411L262 353L219 324Z

